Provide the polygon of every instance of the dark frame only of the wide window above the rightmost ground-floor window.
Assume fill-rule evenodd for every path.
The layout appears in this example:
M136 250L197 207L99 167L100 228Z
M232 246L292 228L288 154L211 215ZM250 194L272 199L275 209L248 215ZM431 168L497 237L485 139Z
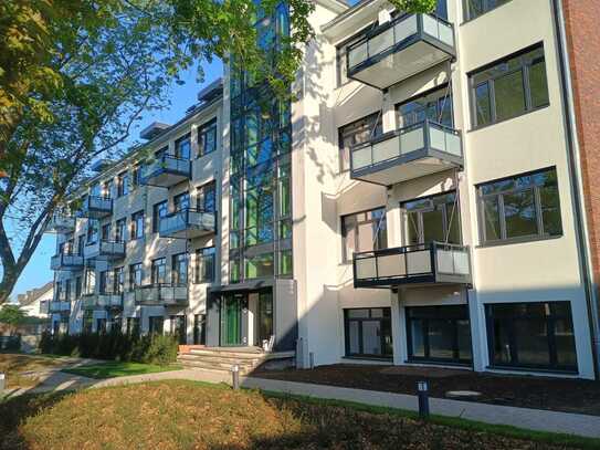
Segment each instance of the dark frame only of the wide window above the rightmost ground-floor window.
M530 184L526 187L518 187L518 188L512 188L512 189L505 189L501 190L498 192L494 193L482 193L482 188L495 182L504 181L504 180L516 180L518 178L524 178L528 176L535 176L537 174L543 174L546 171L554 170L556 172L556 166L546 167L538 170L531 170L523 174L517 174L509 177L503 177L491 181L485 181L475 185L475 193L476 193L476 201L477 201L477 222L478 222L478 237L480 237L480 245L478 247L494 247L494 245L508 245L513 243L525 243L525 242L534 242L539 240L547 240L547 239L559 239L565 234L565 229L562 227L562 208L560 207L560 190L558 188L558 175L556 180L556 189L557 189L557 197L558 197L558 209L559 209L559 217L560 217L560 233L558 234L548 234L545 233L545 224L544 224L544 217L543 217L543 206L541 206L541 199L539 193L539 186L536 186L535 184ZM512 193L518 193L518 192L525 192L528 190L533 190L533 197L534 197L534 207L536 211L536 233L535 234L527 234L527 236L519 236L519 237L513 237L507 238L506 237L506 216L504 213L504 196L512 195ZM501 202L499 197L503 197L503 201ZM485 231L485 203L484 200L486 198L496 197L498 198L498 220L499 220L499 233L501 239L486 239L486 231Z

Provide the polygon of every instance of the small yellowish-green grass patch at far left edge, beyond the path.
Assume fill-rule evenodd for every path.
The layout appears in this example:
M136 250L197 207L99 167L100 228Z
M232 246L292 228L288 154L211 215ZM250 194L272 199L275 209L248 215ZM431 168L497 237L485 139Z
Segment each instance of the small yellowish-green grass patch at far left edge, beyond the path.
M7 374L7 388L31 387L39 384L35 375L28 371L48 371L64 366L64 362L45 356L31 356L13 353L0 353L0 371Z

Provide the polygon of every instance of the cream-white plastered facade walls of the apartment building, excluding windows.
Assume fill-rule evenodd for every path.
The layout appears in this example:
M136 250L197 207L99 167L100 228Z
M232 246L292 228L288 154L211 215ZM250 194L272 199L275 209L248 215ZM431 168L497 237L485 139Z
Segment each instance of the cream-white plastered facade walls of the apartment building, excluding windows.
M298 342L302 343L296 348L299 359L304 365L308 365L312 354L316 365L335 364L352 356L348 348L352 346L355 338L362 339L360 348L373 345L372 339L369 341L369 333L372 333L372 336L379 336L379 333L383 333L381 328L383 322L378 322L379 318L372 314L380 314L381 311L385 311L386 317L389 317L391 335L389 336L390 342L386 341L381 345L389 344L392 347L392 357L389 358L389 354L381 354L381 348L379 348L371 355L365 354L358 359L375 356L383 359L388 357L386 360L398 365L461 364L480 371L522 370L537 374L549 370L564 376L593 378L592 338L588 315L589 300L586 295L585 276L580 268L582 250L577 238L579 224L576 223L572 212L576 201L572 189L576 187L570 175L571 168L568 159L560 67L557 56L558 38L554 27L550 2L547 0L512 0L477 18L465 21L463 19L466 17L463 11L463 2L448 0L448 22L453 24L454 36L453 52L455 54L452 57L439 60L441 54L439 49L432 52L423 46L417 46L421 45L418 40L414 48L412 50L409 48L400 62L393 61L392 52L391 60L388 59L387 62L373 63L366 67L365 73L369 71L367 75L355 74L355 76L362 76L365 80L372 80L372 83L367 84L361 79L364 82L350 80L340 85L338 85L339 64L336 62L340 54L339 49L344 54L344 43L349 38L356 36L357 32L368 27L375 27L373 23L377 25L378 20L381 27L381 21L386 21L388 17L392 15L385 12L391 11L391 7L382 0L364 1L351 9L347 9L346 6L336 1L316 1L315 4L315 11L309 18L310 24L315 29L315 39L306 49L304 65L294 86L299 95L298 100L292 104L291 112L293 279L264 284L264 286L273 286L270 287L273 290L273 295L275 291L281 293L281 296L275 300L275 325L272 329L277 329L277 321L287 320L278 315L284 310L283 304L294 305L294 315L297 322L295 337L299 338ZM473 119L475 113L473 112L471 75L481 67L486 67L488 64L535 45L543 48L547 105L529 108L525 114L510 116L505 121L477 126ZM428 57L431 57L429 63ZM410 72L412 67L421 67L421 70L410 72L411 76L400 82L385 85L382 74L385 70L389 71L390 67L386 67L388 63L397 64L392 65L391 72L389 72L392 74L393 71L401 72L401 70ZM400 63L401 65L398 65ZM402 64L410 69L402 69ZM380 86L373 87L369 84ZM385 87L380 88L381 85ZM187 342L191 344L194 342L194 315L208 314L207 299L210 290L214 292L248 291L251 296L249 303L245 304L243 314L248 314L250 317L249 325L245 328L244 325L241 327L248 339L244 342L245 345L252 345L256 342L257 332L254 328L259 326L255 317L257 301L253 300L252 295L257 292L261 281L250 284L242 283L239 289L234 286L235 283L230 282L231 93L229 86L230 74L225 70L222 100L189 115L179 125L169 128L149 144L152 150L168 144L168 153L173 154L175 140L186 133L191 133L191 154L196 155L196 146L198 145L196 130L203 123L215 117L217 135L219 136L217 151L201 158L193 157L190 179L169 189L146 186L139 187L122 198L116 198L116 195L113 193L113 213L107 219L103 219L115 221L126 217L129 226L131 213L138 210L145 211L145 239L128 241L125 259L123 262L118 262L124 268L143 262L145 268L143 284L150 283L152 260L165 255L167 258L167 276L170 276L170 259L181 252L187 252L190 255L188 280L191 280L196 264L194 250L212 245L217 249L215 266L220 270L215 271L213 282L209 285L189 282L188 302L179 307L136 305L134 297L131 297L133 294L125 292L122 313L124 329L127 317L140 317L141 329L148 331L148 317L165 316L165 329L168 331L172 329L169 327L171 315L185 315ZM452 128L460 132L462 139L463 155L462 164L459 167L449 166L442 170L438 168L432 172L432 169L423 168L418 164L408 169L408 165L404 167L400 167L401 164L392 165L387 168L387 174L391 177L387 179L391 179L392 182L383 182L383 186L358 180L358 177L352 176L352 170L340 170L339 133L341 128L375 114L381 117L383 133L393 132L403 126L399 123L400 115L397 114L397 106L400 107L399 105L404 105L435 88L441 90L440 92L445 98L444 102L452 103ZM527 95L534 94L528 93ZM126 167L133 167L136 163L136 155L134 154L123 164L98 175L98 179L116 177ZM440 163L434 161L434 164L439 165ZM478 187L494 180L546 168L556 170L560 231L554 236L536 236L536 239L528 237L518 242L515 240L499 240L494 244L485 242L482 231L485 223L482 220ZM406 170L402 174L408 174L406 179L393 181L393 177L398 177L401 170ZM379 174L377 174L378 171ZM381 176L382 171L383 169L378 170L377 168L372 170L375 177ZM211 180L215 180L218 186L215 233L192 240L165 239L151 233L152 206L155 203L168 199L169 206L172 208L173 197L186 190L190 192L193 203L196 188ZM343 217L375 208L385 208L386 247L388 249L406 248L413 243L408 240L406 202L430 198L430 196L443 192L457 192L459 200L454 201L452 207L448 206L446 209L452 210L452 220L454 212L456 212L453 210L454 208L457 210L456 217L460 216L461 243L467 249L471 261L470 282L411 284L397 281L391 289L390 286L386 286L387 289L355 287L352 260L348 258L347 261L344 261L343 258L345 245ZM541 205L543 200L536 201L536 205ZM444 223L446 223L446 228L450 228L448 222L451 219L448 213L444 217ZM541 223L544 219L536 220ZM104 222L101 221L102 223ZM76 227L75 242L77 236L85 233L86 221L77 220ZM59 243L64 239L66 238L61 234ZM355 250L373 250L372 243L371 249ZM419 244L425 243L419 242ZM362 244L365 242L361 242L360 245ZM96 271L102 270L104 270L102 264L96 265ZM76 272L57 272L56 281L72 279L74 273ZM128 276L126 271L125 291L130 282ZM290 284L286 284L288 281ZM81 331L83 323L81 300L74 297L71 300L70 329ZM284 302L284 300L286 301ZM531 343L525 343L527 336L519 335L518 339L520 341L517 341L517 337L513 337L514 341L507 337L506 342L509 341L510 344L506 344L506 348L501 348L502 346L498 347L499 349L496 348L498 360L494 360L494 356L491 354L495 348L495 344L491 341L494 331L490 327L498 327L495 331L495 338L499 342L504 338L502 336L504 328L501 327L505 322L498 318L499 322L494 325L496 316L492 314L496 313L492 312L496 310L492 305L530 305L534 303L544 304L546 322L541 325L536 323L539 328L536 328L535 332L531 328L529 336ZM565 317L557 318L552 315L554 313L549 313L550 310L554 311L555 304L557 307L558 305L560 307L567 306L570 317L567 322L570 321L570 326L561 322ZM411 326L415 328L409 331L407 315L412 312L424 312L425 310L422 307L452 305L464 305L466 312L466 317L452 322L452 326L459 326L456 325L459 322L464 325L466 321L467 334L470 334L469 357L461 362L452 360L456 358L445 356L435 358L429 355L430 357L428 357L427 354L423 357L415 357L415 347L420 345L428 347L427 352L430 354L440 350L434 348L435 344L432 345L432 342L439 339L440 336L442 339L445 338L444 331L442 329L441 334L436 335L432 329L438 326L439 321L452 321L453 318L448 318L443 316L445 313L440 312L439 314L442 314L440 316L433 315L410 322ZM359 318L357 318L358 322L348 318L350 314L348 311L367 311L368 308L371 308L370 317L377 320L359 324ZM438 314L436 311L442 310L432 308L427 313ZM94 311L93 314L94 318L102 318L107 313L102 310ZM214 314L213 318L210 314L208 317L208 333L212 336L209 338L209 344L219 342L219 336L221 338L223 336L223 310L221 310L221 315L217 311ZM534 321L538 318L534 317ZM524 317L518 320L515 317L516 322L525 320ZM429 335L415 337L415 331L427 321L429 321L429 325L423 326L429 327L427 328ZM93 329L96 329L96 323L97 321L94 321ZM380 328L376 329L372 326ZM527 328L528 326L529 322L523 322L523 327ZM555 328L550 332L548 326L555 326ZM354 327L360 328L359 334L355 337L347 335L351 327L352 329L355 329ZM518 328L519 333L523 332L523 327ZM540 332L541 328L545 331ZM452 329L452 333L459 334L456 328ZM272 333L277 334L278 332L272 331ZM411 333L412 341L409 336ZM565 341L566 335L568 336ZM420 338L423 342L420 342ZM461 338L460 336L455 337L456 342ZM572 348L562 348L564 342L571 343L569 345ZM534 349L539 347L541 353L547 352L545 346L549 346L550 364L544 363L547 355L539 357L540 364L520 360L517 356L517 347L520 346L524 352L523 348L527 345ZM411 346L412 350L409 348ZM450 345L444 347L442 344L441 347L440 354L452 350ZM530 348L529 353L533 352ZM560 352L575 352L575 357L564 356ZM504 362L505 364L499 360L503 357L507 359ZM531 360L536 359L535 355L529 354L527 357ZM559 367L561 364L557 358L562 357L571 358L568 369Z

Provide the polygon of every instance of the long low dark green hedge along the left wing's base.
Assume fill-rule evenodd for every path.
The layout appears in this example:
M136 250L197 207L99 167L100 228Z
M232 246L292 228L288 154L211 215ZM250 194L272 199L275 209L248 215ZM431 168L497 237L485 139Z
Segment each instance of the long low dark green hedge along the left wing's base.
M39 347L42 353L56 355L168 365L176 362L179 344L168 334L139 336L115 329L77 335L43 332Z

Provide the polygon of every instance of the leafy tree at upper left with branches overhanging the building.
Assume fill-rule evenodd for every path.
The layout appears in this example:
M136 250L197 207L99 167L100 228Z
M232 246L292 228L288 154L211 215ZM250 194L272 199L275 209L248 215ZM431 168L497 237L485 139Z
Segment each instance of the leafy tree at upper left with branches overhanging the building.
M168 106L167 86L182 69L220 57L290 94L313 35L314 3L286 1L292 33L273 66L254 19L280 2L0 2L0 304L91 161L117 155L143 112ZM391 2L414 11L434 4Z

